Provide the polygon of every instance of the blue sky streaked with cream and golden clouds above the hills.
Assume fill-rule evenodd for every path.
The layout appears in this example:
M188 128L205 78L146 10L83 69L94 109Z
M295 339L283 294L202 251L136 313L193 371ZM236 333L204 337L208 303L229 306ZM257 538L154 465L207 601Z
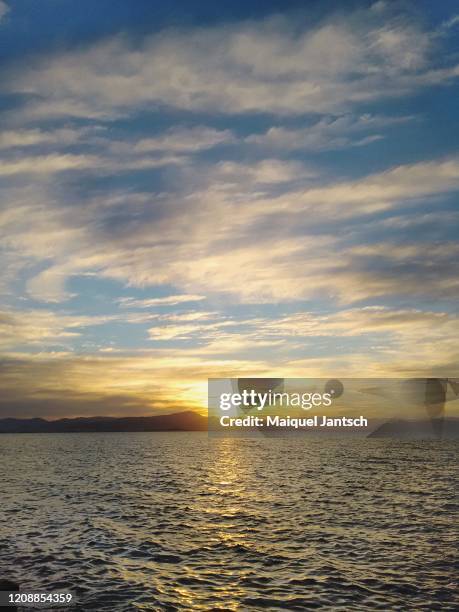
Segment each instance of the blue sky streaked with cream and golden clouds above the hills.
M458 9L0 0L0 416L457 377Z

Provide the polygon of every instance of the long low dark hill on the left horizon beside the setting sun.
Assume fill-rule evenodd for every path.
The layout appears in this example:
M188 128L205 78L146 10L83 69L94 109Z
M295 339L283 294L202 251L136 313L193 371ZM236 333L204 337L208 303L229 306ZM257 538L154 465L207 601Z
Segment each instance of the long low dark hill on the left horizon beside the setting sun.
M75 419L0 419L0 433L73 433L90 431L207 431L207 417L176 412L149 417L79 417Z

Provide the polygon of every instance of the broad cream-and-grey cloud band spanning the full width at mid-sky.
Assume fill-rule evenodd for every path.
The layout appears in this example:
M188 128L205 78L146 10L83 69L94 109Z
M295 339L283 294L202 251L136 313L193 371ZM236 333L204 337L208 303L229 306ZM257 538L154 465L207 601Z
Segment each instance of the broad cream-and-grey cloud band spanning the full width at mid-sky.
M88 272L246 303L457 295L456 247L435 242L436 198L459 190L457 159L318 180L298 162L264 160L176 166L161 193L81 200L67 182L45 181L4 190L0 232L24 265L40 262L27 287L47 301L68 297L66 279ZM403 215L420 223L420 206L435 210L436 237L395 238L391 217L402 231Z

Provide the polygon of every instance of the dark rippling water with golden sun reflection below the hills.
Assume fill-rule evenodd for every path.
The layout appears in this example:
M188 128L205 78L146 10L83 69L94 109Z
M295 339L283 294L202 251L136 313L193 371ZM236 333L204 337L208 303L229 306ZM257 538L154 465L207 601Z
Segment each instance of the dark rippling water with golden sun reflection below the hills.
M3 435L0 577L79 610L453 610L457 448Z

